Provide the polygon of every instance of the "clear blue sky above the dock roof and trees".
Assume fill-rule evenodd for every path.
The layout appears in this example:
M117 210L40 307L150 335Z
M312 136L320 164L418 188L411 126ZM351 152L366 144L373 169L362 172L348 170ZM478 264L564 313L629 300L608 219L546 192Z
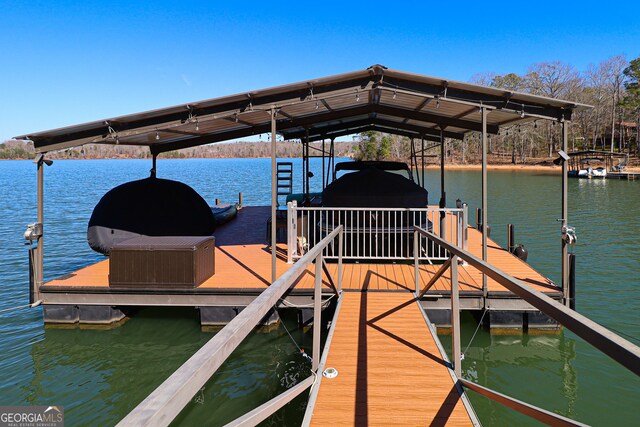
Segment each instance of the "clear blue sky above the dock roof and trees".
M0 0L0 141L372 64L468 81L640 56L640 1Z

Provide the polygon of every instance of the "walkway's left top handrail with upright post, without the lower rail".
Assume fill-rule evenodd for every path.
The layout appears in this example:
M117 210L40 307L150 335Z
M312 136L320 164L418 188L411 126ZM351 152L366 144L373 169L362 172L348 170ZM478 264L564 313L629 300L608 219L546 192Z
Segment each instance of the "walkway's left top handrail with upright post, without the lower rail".
M322 251L336 238L341 238L342 226L329 233L318 245L300 258L291 268L264 290L242 310L220 332L211 338L193 356L180 366L169 378L136 406L118 426L167 426L189 403L198 390L211 378L231 353L242 343L257 323L277 304L284 293L316 261L314 309L320 309L320 287L322 284ZM341 261L341 258L340 258ZM338 289L342 277L338 276ZM317 312L314 316L319 318ZM315 324L318 323L316 326ZM316 331L318 337L316 337ZM319 322L314 321L314 362L319 358ZM317 363L313 363L313 369ZM286 392L285 392L286 393Z

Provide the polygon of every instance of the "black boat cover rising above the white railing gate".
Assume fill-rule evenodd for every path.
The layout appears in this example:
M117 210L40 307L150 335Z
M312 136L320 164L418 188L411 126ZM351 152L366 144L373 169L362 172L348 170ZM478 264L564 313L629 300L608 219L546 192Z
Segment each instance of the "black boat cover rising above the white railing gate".
M402 175L377 168L346 174L322 193L322 204L329 207L424 208L427 203L427 190Z

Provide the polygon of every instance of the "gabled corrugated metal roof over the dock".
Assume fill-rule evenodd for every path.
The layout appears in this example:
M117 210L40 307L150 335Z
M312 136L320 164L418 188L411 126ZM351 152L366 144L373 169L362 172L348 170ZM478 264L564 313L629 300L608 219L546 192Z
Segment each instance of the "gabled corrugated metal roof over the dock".
M16 137L38 152L87 143L146 145L154 153L270 132L276 110L284 138L336 137L367 129L409 137L461 138L481 128L479 107L492 110L487 130L535 119L571 120L587 105L374 65L366 70ZM495 112L493 112L495 111Z

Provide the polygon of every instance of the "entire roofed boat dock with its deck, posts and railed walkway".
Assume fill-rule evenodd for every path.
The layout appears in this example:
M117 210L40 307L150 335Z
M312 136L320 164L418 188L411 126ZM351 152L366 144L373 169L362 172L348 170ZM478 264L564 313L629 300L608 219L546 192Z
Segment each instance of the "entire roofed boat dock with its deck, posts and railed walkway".
M551 323L544 320L547 326L562 324L636 374L640 372L640 349L567 307L567 247L571 239L566 233L558 238L562 256L559 286L500 248L487 233L489 135L504 125L553 120L561 125L566 151L568 123L579 108L587 106L374 65L322 79L23 135L20 138L34 141L38 153L37 222L25 236L36 243L32 250L32 301L44 305L45 320L48 312L51 321L67 316L70 323L83 322L83 316L85 321L96 321L102 316L108 322L123 315L121 308L127 306L185 305L198 307L203 323L228 322L120 425L168 425L247 334L261 322L272 320L274 307L292 305L303 312L306 308L307 320L313 316L311 376L266 403L258 402L260 406L233 425L255 425L310 388L304 425L475 425L478 420L467 390L541 421L577 425L461 378L459 312L513 312L520 316L519 326L523 325L523 313L534 317L542 313L541 318L554 319ZM265 245L264 225L277 217L277 135L300 139L306 181L310 142L329 140L333 145L337 137L367 130L406 136L419 156L424 155L425 141L440 147L442 197L438 206L413 211L397 208L413 218L429 215L433 229L423 228L422 223L400 226L401 238L412 239L411 253L394 253L392 257L391 251L383 250L382 255L372 251L363 258L361 253L348 252L349 231L344 224L323 228L321 222L312 221L322 234L313 245L298 247L297 232L304 226L297 228L296 219L315 214L313 207L291 203L287 206L286 243L278 243L277 221L270 221L271 240ZM444 194L445 138L461 139L470 132L480 134L483 150L483 221L476 227L469 226L465 206L447 208ZM152 176L156 176L162 172L157 162L161 153L261 133L271 133L271 206L245 207L237 219L216 230L216 269L211 278L192 289L116 289L109 285L109 260L104 260L43 283L43 183L45 165L50 163L48 152L94 143L148 146L153 156ZM330 176L331 161L327 167ZM568 228L569 220L566 179L567 163L563 162L562 194L558 197L562 230ZM310 192L308 182L304 190ZM387 217L392 211L385 211ZM390 227L382 229L388 233ZM389 240L388 236L381 239ZM433 246L423 252L423 242ZM352 262L346 262L349 257ZM321 346L318 320L322 308L330 303L335 304L335 314ZM437 322L432 319L437 315L432 316L431 311L445 313L440 323L451 331L451 357L440 344L434 326ZM534 317L526 321L529 327ZM499 323L499 317L495 321ZM393 376L386 375L388 372Z

